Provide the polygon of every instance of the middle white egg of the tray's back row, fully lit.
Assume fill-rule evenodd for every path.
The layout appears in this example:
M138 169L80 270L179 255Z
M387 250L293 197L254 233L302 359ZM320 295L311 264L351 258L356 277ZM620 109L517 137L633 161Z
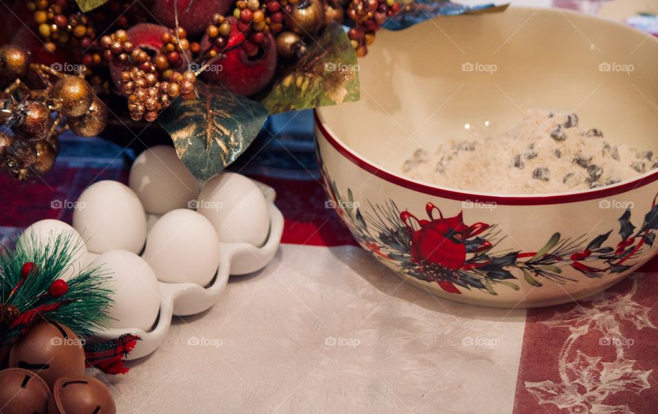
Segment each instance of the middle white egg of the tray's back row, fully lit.
M87 241L90 252L141 252L146 213L130 188L118 181L99 181L88 186L77 202L73 227Z

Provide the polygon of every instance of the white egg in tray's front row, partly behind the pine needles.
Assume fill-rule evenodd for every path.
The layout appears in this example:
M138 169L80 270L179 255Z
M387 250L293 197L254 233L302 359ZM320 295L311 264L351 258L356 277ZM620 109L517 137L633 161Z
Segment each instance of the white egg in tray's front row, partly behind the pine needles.
M105 287L112 290L114 303L108 314L108 328L151 330L160 310L160 286L149 264L132 252L112 250L91 264L100 267L109 278Z

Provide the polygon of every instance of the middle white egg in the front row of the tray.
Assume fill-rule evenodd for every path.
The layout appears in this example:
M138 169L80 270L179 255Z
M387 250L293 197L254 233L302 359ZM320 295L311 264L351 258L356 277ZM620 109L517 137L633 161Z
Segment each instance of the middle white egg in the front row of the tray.
M219 237L212 223L181 208L160 217L142 256L160 282L193 282L206 287L219 267Z

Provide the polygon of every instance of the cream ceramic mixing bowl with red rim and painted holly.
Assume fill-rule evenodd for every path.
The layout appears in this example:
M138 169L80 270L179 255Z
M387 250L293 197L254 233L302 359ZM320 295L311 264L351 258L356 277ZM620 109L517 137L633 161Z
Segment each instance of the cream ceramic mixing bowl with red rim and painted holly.
M547 306L602 291L656 254L658 171L504 195L412 180L402 164L418 147L500 134L531 108L574 110L612 143L657 149L658 39L510 8L382 32L358 64L361 100L315 112L327 205L405 281L469 304Z

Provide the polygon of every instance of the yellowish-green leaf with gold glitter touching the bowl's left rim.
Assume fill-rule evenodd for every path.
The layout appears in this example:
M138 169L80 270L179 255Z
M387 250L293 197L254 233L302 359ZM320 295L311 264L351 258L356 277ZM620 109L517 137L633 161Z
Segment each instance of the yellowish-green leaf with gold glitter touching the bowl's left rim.
M334 23L308 47L263 99L269 113L358 101L356 53L343 27Z

